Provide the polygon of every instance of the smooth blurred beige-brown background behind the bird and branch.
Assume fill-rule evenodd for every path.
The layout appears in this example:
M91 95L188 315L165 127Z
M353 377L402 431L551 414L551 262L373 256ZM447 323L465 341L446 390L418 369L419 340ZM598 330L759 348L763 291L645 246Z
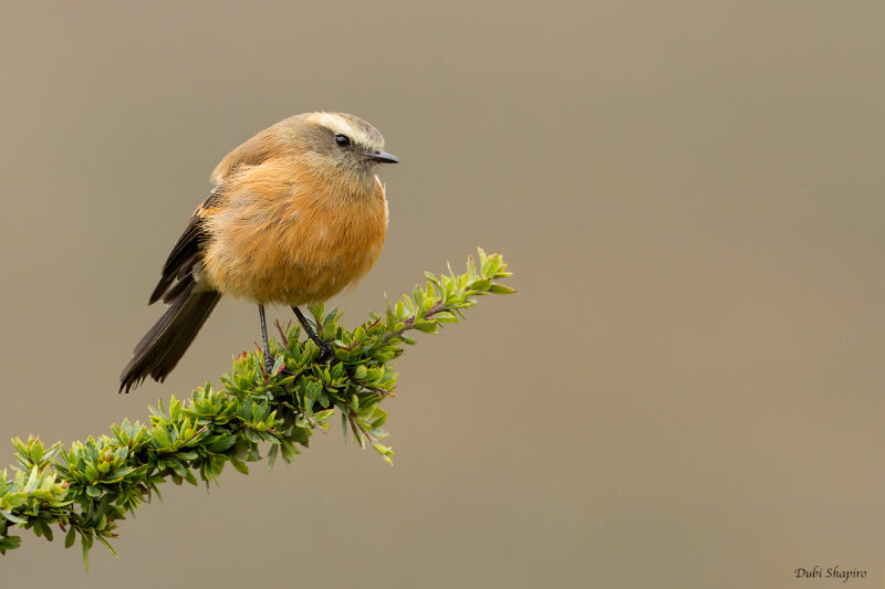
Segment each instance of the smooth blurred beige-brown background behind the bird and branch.
M394 467L336 427L270 475L166 485L88 575L25 533L0 585L775 588L837 566L885 587L883 18L0 3L0 440L146 420L252 348L256 308L223 301L164 385L116 393L212 167L295 113L356 114L402 159L347 325L476 245L519 288L398 361Z

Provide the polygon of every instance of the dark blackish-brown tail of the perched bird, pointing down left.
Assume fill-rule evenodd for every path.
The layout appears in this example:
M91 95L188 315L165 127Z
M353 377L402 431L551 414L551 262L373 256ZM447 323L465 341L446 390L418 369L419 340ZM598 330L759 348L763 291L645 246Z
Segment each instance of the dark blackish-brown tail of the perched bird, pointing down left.
M170 301L171 305L133 350L133 358L119 376L119 391L129 392L148 376L163 382L185 355L221 295L216 291L194 292L191 282Z

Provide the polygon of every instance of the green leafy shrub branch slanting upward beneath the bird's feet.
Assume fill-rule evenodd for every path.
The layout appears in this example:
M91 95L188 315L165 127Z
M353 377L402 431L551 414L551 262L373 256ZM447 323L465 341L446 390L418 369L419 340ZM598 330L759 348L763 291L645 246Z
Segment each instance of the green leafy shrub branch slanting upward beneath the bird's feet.
M154 494L166 481L191 485L218 482L230 463L248 474L248 463L261 460L267 449L270 470L278 456L292 462L315 430L330 428L337 412L344 429L361 448L366 444L387 462L393 450L381 442L387 412L379 407L396 388L391 361L415 344L406 333L436 334L447 323L457 323L464 311L486 294L514 292L498 281L510 276L501 255L479 249L479 265L470 256L467 271L436 276L412 295L387 303L383 315L371 313L354 330L345 329L341 313L326 313L323 305L310 307L321 337L334 340L335 358L321 362L322 350L300 329L283 329L281 340L271 341L275 364L268 374L261 350L243 353L221 388L207 382L190 398L173 397L149 408L150 422L128 419L111 425L111 434L90 437L70 448L55 443L45 448L35 437L12 440L12 466L0 476L0 554L18 548L17 528L32 529L53 539L53 526L64 534L65 547L80 537L83 560L97 540L112 553L117 523ZM160 496L162 498L162 496Z

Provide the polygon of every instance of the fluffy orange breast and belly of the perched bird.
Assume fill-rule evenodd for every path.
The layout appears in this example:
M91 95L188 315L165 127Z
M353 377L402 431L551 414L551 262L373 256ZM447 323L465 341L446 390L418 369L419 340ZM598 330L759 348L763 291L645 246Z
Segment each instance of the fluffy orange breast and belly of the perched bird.
M261 168L223 187L226 197L207 215L204 273L215 288L301 305L330 298L368 271L387 229L377 178L326 182Z

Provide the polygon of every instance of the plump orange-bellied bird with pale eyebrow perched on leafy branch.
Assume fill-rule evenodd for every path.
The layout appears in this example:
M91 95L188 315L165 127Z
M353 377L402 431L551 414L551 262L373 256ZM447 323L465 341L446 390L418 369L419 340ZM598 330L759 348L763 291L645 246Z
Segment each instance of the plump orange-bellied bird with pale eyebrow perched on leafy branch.
M175 368L221 295L292 307L309 337L331 353L299 305L322 302L365 274L387 230L377 164L398 159L368 123L343 113L281 120L228 154L163 266L148 304L169 308L142 338L119 377L129 392Z

